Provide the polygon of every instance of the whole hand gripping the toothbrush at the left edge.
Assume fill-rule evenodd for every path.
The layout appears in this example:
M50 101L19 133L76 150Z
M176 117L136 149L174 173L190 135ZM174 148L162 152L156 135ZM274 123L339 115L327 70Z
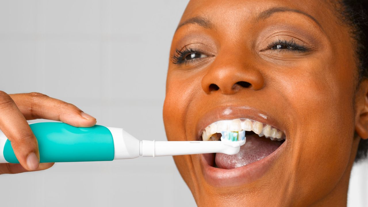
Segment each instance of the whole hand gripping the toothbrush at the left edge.
M39 163L38 144L26 120L50 119L76 127L91 127L96 119L70 103L40 93L0 91L0 130L11 141L20 164L0 164L0 174L39 171L54 163ZM1 152L2 153L2 152Z

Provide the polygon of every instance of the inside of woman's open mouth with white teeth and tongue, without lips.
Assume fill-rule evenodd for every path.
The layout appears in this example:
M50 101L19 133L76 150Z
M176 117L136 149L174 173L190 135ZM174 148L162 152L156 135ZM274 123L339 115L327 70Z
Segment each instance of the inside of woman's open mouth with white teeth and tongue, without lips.
M235 155L214 153L206 156L210 166L222 169L239 168L259 161L276 151L286 140L285 133L269 124L252 119L219 120L202 130L203 141L219 141L221 131L245 131L246 142Z

